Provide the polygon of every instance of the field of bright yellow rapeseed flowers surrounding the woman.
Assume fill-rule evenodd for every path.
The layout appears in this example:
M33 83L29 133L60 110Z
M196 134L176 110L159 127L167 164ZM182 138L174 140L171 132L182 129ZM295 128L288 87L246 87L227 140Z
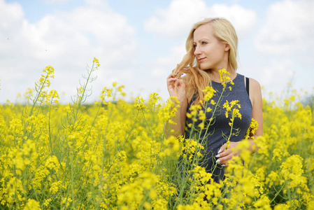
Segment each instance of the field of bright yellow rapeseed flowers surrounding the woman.
M53 68L45 73L52 76ZM81 96L86 85L82 88ZM197 135L164 137L164 123L173 123L178 101L161 105L154 92L147 101L137 97L134 106L123 98L123 88L105 87L95 104L54 104L53 91L45 106L36 97L28 106L1 104L0 209L313 207L313 106L297 102L297 93L283 103L263 101L264 137L254 139L257 151L246 149L257 128L252 120L236 148L241 153L225 168L226 178L215 183L200 166L207 156ZM42 91L36 88L34 95ZM217 92L208 87L206 94L206 102L215 105L210 99ZM238 108L236 101L224 105L230 118L240 118ZM206 120L198 106L187 117Z

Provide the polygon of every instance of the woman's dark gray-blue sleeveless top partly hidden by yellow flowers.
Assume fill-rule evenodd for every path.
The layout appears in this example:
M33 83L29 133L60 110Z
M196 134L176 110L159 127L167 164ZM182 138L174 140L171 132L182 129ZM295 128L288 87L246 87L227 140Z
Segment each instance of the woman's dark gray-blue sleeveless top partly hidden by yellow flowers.
M245 89L244 83L244 76L237 73L236 78L234 78L234 85L231 83L227 83L227 88L224 90L222 94L222 98L218 103L222 92L222 84L216 83L212 81L212 87L216 90L215 95L213 96L213 100L217 103L216 105L209 104L206 107L210 107L211 109L215 109L214 113L214 123L208 127L206 131L206 125L209 123L209 118L213 115L213 111L209 113L206 112L206 123L205 129L201 130L197 125L201 123L201 120L194 123L194 129L188 127L187 125L193 123L191 118L187 118L186 125L185 125L185 139L199 139L199 141L203 141L203 145L206 150L206 155L202 158L202 161L199 163L202 167L206 168L206 172L213 174L213 179L216 182L219 182L220 179L224 179L224 167L221 165L217 165L215 169L213 166L217 158L217 152L219 151L220 147L226 143L226 139L224 139L223 135L229 137L231 127L229 126L231 114L229 112L229 118L226 118L225 111L226 109L223 108L224 103L226 100L230 103L233 100L238 100L238 104L241 105L241 109L239 109L242 119L235 118L234 119L234 129L232 133L236 133L235 135L231 135L230 141L241 141L244 139L246 131L250 126L250 122L252 120L252 104L250 102L250 97L248 96L248 92ZM229 90L231 86L232 90ZM196 95L192 98L190 104L187 106L187 112L190 113L190 106L192 102L196 99ZM238 109L238 107L237 107ZM204 112L205 109L203 108ZM195 130L195 128L197 130ZM201 133L200 133L201 132Z

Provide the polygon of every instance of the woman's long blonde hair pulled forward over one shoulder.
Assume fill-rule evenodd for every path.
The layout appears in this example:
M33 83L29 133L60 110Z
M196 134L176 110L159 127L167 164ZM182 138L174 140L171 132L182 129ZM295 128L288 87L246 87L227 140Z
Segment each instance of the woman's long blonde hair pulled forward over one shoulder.
M185 73L185 87L188 99L192 99L195 92L197 92L197 99L193 104L199 104L200 100L204 99L205 93L202 90L208 85L211 85L211 74L206 69L201 69L197 59L194 55L194 31L201 25L210 24L213 26L214 36L221 43L227 43L230 46L228 64L231 70L236 71L238 68L237 63L237 48L238 48L238 36L236 36L236 30L231 25L231 22L224 18L206 18L200 22L197 22L191 29L185 48L187 54L183 57L182 61L173 73L178 73L178 77L181 73Z

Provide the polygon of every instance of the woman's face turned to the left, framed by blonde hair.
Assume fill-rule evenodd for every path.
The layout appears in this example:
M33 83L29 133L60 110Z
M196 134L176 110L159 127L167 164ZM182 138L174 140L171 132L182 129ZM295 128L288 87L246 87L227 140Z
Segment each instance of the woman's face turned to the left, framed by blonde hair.
M229 49L228 44L215 38L212 25L201 25L194 31L194 55L201 69L227 69Z

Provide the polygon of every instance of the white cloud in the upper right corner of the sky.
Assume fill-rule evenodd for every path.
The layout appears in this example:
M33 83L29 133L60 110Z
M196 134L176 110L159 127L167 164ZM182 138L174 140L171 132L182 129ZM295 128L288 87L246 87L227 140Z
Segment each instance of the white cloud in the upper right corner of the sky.
M314 48L314 1L284 0L273 3L266 24L255 40L258 52L272 55L311 53Z

